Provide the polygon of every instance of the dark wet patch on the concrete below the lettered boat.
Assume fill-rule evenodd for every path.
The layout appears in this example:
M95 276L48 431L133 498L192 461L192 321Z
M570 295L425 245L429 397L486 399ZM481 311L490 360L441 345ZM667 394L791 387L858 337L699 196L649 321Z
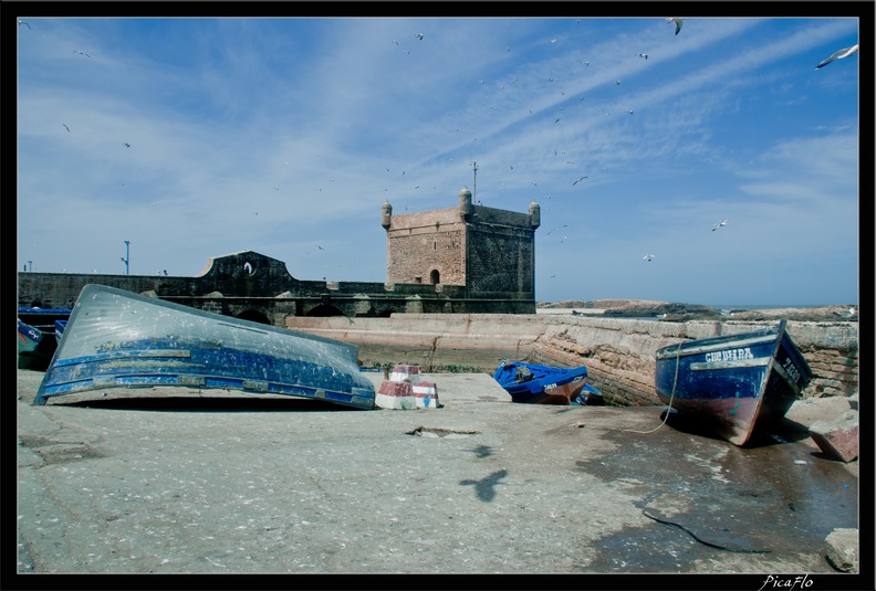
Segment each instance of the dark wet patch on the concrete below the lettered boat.
M576 469L639 494L636 507L682 527L643 514L642 526L601 540L591 569L663 570L668 555L687 572L729 548L770 550L763 555L770 558L823 556L833 529L857 527L857 477L805 441L764 433L743 448L668 424L606 437L617 444L611 457L578 461Z

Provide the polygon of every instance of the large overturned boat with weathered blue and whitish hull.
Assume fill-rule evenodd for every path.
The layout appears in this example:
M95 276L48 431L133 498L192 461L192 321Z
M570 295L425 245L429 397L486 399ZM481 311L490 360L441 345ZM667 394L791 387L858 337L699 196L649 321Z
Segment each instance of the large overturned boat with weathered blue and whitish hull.
M34 404L112 388L239 390L374 408L358 348L104 285L86 285ZM139 395L139 392L137 393Z

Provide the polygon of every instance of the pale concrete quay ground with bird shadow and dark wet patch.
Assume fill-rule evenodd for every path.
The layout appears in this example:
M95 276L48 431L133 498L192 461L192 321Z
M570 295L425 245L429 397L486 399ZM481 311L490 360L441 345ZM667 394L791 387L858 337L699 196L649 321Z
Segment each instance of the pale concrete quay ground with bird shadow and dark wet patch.
M18 372L19 573L855 579L824 538L858 527L857 462L794 421L739 448L661 408L514 404L471 373L424 376L438 409L181 389L33 407L42 376Z

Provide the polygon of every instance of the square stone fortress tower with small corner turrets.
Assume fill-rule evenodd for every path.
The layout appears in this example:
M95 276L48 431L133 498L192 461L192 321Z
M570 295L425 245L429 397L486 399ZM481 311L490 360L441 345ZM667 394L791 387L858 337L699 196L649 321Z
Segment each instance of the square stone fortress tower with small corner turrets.
M465 287L465 297L535 299L535 229L541 208L528 213L471 202L459 192L459 207L393 215L382 207L386 230L386 281Z

